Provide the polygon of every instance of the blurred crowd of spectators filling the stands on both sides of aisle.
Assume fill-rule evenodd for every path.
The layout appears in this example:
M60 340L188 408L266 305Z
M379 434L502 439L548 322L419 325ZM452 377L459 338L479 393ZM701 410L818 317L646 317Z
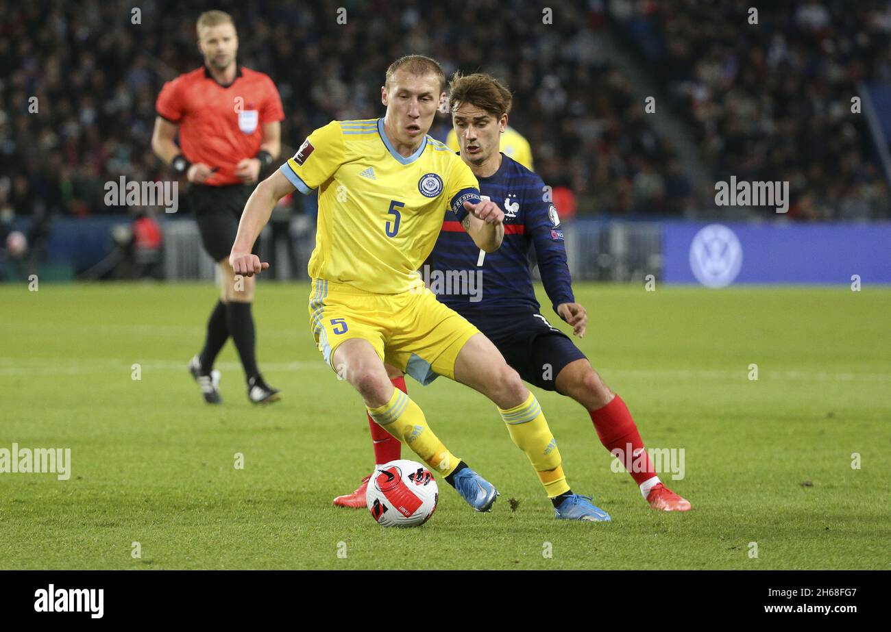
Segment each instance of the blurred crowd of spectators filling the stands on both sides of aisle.
M716 177L783 174L799 217L887 215L865 124L835 101L853 77L887 79L887 16L858 10L844 26L820 26L819 11L763 10L764 22L795 25L784 38L738 27L735 2L717 4L717 24L702 20L695 0L671 11L627 0L554 4L552 24L540 6L519 0L458 6L217 3L236 21L241 63L279 87L285 152L332 118L379 116L383 70L423 53L447 73L482 69L511 86L511 126L531 143L544 181L572 191L578 215L680 215L707 205L707 191L692 190L628 79L605 60L609 17L664 57L659 73ZM132 3L117 1L0 4L0 214L127 212L105 204L105 182L172 177L151 152L154 105L165 81L201 63L198 11L168 0L139 11L137 22ZM846 39L859 19L877 25L867 36L867 50L884 54L877 61L864 63L859 40ZM829 29L833 50L815 28ZM432 133L444 139L447 126L443 116Z

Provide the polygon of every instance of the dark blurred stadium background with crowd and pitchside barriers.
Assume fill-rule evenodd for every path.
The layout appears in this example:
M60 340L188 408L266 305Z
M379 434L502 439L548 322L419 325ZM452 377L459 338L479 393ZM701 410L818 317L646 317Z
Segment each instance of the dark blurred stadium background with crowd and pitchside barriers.
M0 251L2 276L212 275L188 209L103 200L104 183L121 175L173 179L151 151L154 102L165 81L200 66L194 20L208 8L232 13L239 61L279 86L283 156L332 118L380 116L383 70L405 53L429 54L446 73L501 78L515 93L511 126L571 224L578 279L660 277L673 256L662 252L666 220L887 230L889 4L762 3L752 25L753 4L156 0L140 4L138 24L132 3L0 4L0 247L11 231L29 242L19 256ZM854 96L862 112L851 111ZM655 112L645 111L648 97ZM432 134L445 138L447 126L440 117ZM731 175L789 182L788 213L715 207L715 182ZM290 200L263 238L279 278L306 278L314 204ZM150 219L132 224L143 212ZM164 235L157 251L151 218ZM839 260L863 249L845 231L819 239L843 244ZM884 257L869 263L880 269Z

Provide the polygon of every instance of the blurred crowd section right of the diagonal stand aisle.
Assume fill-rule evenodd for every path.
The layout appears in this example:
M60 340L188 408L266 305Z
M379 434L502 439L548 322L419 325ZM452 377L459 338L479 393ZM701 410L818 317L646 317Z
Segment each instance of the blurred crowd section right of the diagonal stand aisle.
M769 3L756 16L751 5L611 0L609 15L658 69L715 180L789 181L799 219L891 216L864 106L851 102L862 83L891 83L891 4Z

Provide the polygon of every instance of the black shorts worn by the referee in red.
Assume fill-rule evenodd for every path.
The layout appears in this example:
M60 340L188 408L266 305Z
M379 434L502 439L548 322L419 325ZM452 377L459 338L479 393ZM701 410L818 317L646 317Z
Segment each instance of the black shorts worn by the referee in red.
M238 234L241 212L247 203L253 184L228 184L211 187L191 182L186 190L189 207L195 214L201 243L214 261L228 259ZM259 239L251 252L259 255Z

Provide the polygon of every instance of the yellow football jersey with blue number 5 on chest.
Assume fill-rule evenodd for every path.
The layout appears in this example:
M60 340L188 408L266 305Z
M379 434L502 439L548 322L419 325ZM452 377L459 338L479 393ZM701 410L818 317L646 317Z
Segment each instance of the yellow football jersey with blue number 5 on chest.
M281 167L307 194L319 190L309 276L376 294L422 285L417 273L436 245L447 208L479 200L462 159L430 136L408 158L393 149L383 118L331 121Z

